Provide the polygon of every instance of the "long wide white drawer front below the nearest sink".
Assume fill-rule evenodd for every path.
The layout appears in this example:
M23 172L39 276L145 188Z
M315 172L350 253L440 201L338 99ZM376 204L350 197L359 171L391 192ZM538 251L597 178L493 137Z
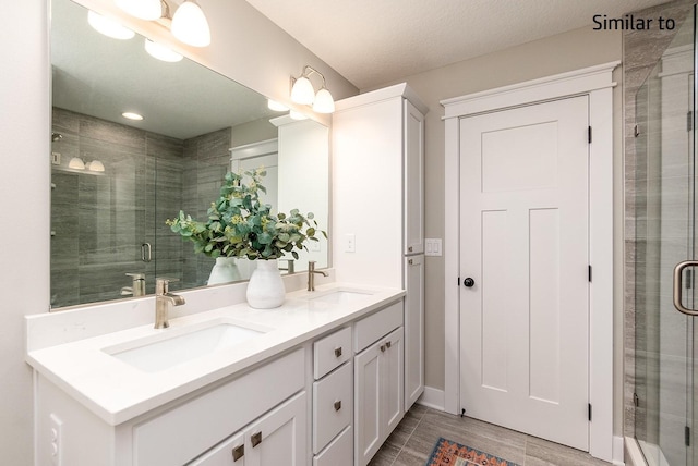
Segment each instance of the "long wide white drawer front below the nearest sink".
M134 426L134 466L192 461L299 392L305 385L304 353L300 348L274 359Z

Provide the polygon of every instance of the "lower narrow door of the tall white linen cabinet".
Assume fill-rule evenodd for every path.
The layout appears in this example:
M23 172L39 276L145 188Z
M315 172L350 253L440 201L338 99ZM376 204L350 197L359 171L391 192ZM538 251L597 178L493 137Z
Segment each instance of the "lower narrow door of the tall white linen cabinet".
M424 256L405 259L405 410L424 392Z

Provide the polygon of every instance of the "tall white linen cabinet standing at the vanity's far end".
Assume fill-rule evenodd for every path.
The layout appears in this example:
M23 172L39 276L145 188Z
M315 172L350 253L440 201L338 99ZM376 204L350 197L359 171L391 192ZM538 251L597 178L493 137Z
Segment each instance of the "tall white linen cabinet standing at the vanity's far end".
M333 262L338 281L407 291L402 396L407 410L424 391L428 108L407 84L361 94L336 106ZM357 406L357 413L360 408ZM361 434L357 429L358 442Z

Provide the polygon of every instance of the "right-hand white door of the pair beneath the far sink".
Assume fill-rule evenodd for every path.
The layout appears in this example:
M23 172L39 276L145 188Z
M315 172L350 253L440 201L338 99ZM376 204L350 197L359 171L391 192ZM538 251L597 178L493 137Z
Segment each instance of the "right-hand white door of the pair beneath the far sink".
M385 351L381 355L381 404L383 408L383 436L382 441L388 438L390 432L402 420L405 414L405 384L404 364L405 345L402 327L395 330L384 339L382 347Z

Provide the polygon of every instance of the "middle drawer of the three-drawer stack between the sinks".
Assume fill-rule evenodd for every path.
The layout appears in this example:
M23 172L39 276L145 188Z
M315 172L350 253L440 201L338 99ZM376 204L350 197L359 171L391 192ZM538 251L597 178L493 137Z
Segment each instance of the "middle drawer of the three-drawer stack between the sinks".
M353 415L353 364L313 382L313 453L351 424Z

